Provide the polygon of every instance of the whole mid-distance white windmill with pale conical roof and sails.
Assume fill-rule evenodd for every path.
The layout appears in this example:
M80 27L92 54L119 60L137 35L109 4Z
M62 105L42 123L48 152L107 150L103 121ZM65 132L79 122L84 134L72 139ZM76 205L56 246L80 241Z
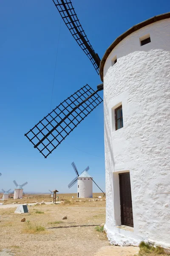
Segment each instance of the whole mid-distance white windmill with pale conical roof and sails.
M68 188L70 189L77 181L77 197L78 198L90 198L93 197L93 182L96 184L96 182L93 180L93 178L88 174L88 170L90 169L89 166L85 168L84 171L79 175L79 172L77 170L77 167L75 163L71 163L75 173L76 177L74 180L71 181L71 183L68 184ZM99 188L99 186L96 184L96 186ZM100 189L100 188L99 188ZM102 189L100 189L102 191ZM103 191L102 191L103 192ZM103 192L105 195L105 193Z

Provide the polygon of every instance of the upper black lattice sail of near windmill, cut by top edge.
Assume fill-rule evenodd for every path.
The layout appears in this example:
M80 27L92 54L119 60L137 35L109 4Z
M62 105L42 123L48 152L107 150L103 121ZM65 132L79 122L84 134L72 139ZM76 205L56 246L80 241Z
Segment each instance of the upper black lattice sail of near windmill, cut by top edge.
M77 41L79 46L85 52L85 54L90 59L96 72L99 74L100 58L99 55L94 51L91 46L87 35L82 29L82 25L79 22L77 14L74 11L72 3L70 0L53 0L55 6L57 7L59 14L64 20L65 25L71 32L71 35Z

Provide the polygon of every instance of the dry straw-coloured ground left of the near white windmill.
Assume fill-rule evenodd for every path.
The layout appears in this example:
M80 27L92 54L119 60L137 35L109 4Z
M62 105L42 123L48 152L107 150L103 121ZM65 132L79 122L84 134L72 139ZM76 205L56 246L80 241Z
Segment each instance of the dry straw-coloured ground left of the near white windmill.
M102 194L94 197L99 195ZM15 201L51 200L50 195L26 197L29 196ZM9 249L15 256L92 256L100 247L109 245L105 233L97 232L92 226L105 222L105 201L74 202L77 198L71 194L59 195L61 199L65 200L64 204L32 206L29 213L22 215L14 214L14 208L0 209L0 250ZM14 200L9 199L5 204L11 202ZM64 215L68 216L67 220L62 220ZM21 222L23 217L26 222ZM27 221L45 230L31 233Z

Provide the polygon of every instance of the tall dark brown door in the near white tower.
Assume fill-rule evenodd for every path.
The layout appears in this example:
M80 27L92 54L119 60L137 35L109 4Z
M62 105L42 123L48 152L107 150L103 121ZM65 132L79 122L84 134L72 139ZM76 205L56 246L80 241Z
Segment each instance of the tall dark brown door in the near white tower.
M133 227L132 196L129 172L119 174L119 186L122 225Z

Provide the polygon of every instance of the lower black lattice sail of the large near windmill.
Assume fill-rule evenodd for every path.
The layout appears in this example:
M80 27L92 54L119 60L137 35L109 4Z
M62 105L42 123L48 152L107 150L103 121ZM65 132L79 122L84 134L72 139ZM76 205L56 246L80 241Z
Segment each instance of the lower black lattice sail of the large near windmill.
M37 123L25 136L47 158L77 125L103 100L88 84L60 103Z

